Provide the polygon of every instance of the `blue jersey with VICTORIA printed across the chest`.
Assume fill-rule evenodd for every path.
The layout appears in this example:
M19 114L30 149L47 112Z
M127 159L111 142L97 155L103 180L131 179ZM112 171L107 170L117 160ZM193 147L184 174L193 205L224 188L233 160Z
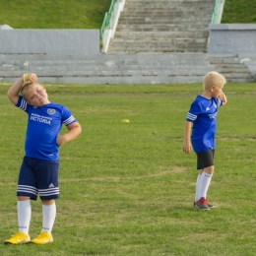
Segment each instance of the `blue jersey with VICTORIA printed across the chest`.
M39 160L58 160L57 136L63 123L67 126L76 122L72 113L64 105L54 102L38 107L32 106L23 96L19 96L16 106L28 113L26 157Z

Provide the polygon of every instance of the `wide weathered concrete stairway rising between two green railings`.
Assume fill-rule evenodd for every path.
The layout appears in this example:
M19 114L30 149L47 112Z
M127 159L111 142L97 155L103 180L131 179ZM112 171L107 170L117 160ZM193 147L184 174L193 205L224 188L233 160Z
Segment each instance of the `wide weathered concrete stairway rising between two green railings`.
M126 0L108 52L206 52L214 8L214 0Z

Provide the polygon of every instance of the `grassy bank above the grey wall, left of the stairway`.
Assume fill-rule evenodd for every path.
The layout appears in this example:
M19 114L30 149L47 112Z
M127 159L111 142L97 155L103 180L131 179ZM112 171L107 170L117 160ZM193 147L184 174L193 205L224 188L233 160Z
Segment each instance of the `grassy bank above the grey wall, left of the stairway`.
M111 0L0 0L0 25L14 29L100 29Z

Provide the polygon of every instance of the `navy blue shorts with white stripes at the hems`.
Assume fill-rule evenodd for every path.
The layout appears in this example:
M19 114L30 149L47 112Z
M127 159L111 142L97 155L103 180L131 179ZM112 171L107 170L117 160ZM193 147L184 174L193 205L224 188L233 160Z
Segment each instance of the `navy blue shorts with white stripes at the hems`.
M17 196L41 200L59 198L59 160L37 160L24 157L18 180Z

